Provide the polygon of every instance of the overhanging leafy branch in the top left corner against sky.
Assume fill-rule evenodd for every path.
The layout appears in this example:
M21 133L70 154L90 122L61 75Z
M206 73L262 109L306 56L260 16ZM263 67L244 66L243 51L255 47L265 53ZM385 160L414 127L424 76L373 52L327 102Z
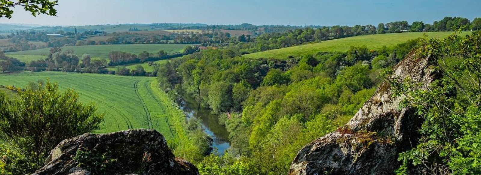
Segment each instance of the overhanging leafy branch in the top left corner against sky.
M12 18L13 10L17 6L22 6L26 12L33 16L47 14L56 16L57 11L54 7L58 5L58 0L0 0L0 17Z

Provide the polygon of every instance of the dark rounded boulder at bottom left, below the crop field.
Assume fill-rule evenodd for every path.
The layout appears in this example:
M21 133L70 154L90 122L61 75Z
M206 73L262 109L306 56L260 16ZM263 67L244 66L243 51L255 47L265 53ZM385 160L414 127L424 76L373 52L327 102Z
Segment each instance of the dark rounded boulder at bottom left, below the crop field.
M190 162L174 157L155 130L84 134L63 140L33 175L198 175Z

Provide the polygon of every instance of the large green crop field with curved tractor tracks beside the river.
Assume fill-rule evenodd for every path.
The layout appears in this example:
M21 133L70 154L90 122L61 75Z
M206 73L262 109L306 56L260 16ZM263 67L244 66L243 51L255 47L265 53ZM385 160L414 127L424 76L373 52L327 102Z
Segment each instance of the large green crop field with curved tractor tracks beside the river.
M157 88L153 77L134 77L63 72L22 72L0 74L0 84L25 87L38 79L57 82L60 90L71 88L80 100L94 102L105 117L96 133L133 128L156 129L167 140L185 135L185 116L167 95Z

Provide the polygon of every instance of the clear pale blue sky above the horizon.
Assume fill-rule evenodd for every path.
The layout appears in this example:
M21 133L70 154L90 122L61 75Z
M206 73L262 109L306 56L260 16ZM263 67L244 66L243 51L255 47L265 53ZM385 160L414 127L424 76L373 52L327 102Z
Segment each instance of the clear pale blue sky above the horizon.
M444 16L481 17L481 0L59 0L58 16L15 9L0 23L96 25L204 23L254 25L377 25L432 23Z

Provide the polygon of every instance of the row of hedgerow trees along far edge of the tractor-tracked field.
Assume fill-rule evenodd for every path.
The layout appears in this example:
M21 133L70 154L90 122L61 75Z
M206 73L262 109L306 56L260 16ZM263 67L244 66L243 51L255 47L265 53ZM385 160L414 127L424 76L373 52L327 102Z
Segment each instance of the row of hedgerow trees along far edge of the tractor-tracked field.
M136 67L134 70L121 67L117 71L105 70L107 66L123 65L129 63L144 63L158 60L164 60L183 55L191 54L197 51L196 47L186 46L182 53L169 54L164 50L159 50L156 54L142 51L138 55L124 51L112 51L109 53L109 60L107 59L92 59L89 54L83 54L78 57L73 50L62 50L60 47L53 47L47 58L42 60L31 61L29 63L22 63L14 58L0 55L0 66L5 67L5 71L18 70L19 66L25 66L28 71L64 71L64 72L83 72L83 73L98 73L98 74L117 74L117 75L156 75L147 73L142 66ZM4 55L4 54L3 54ZM5 61L3 61L5 60ZM3 66L5 65L5 66ZM15 66L13 66L15 65ZM23 67L21 67L23 70Z

